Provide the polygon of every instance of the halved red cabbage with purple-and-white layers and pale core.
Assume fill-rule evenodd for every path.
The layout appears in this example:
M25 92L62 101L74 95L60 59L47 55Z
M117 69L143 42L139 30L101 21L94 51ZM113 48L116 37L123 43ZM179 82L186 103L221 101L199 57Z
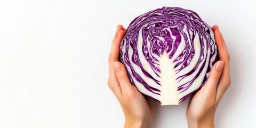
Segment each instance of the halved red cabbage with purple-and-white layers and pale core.
M120 60L131 83L161 105L179 105L199 90L217 59L211 27L180 7L140 15L121 42Z

